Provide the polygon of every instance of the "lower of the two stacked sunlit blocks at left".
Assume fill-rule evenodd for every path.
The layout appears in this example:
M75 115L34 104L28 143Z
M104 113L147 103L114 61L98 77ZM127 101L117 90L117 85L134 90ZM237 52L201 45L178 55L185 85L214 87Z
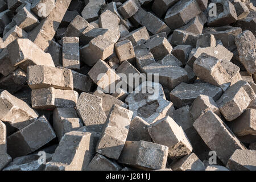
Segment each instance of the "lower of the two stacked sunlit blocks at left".
M53 87L32 89L31 102L34 109L53 110L55 107L75 107L79 94L73 90Z

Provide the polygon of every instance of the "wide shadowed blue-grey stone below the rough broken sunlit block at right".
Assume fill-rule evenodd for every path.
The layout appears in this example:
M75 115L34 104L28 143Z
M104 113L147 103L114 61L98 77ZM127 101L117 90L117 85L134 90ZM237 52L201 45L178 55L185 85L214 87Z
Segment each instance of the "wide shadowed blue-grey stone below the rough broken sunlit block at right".
M212 97L214 101L217 101L222 90L220 87L207 83L186 84L182 82L170 92L170 97L174 106L179 108L191 105L200 94Z

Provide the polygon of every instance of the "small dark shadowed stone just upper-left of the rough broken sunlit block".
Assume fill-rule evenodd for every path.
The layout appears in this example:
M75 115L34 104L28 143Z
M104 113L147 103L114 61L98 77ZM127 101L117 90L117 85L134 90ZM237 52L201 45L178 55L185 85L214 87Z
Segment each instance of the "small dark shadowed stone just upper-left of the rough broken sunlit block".
M177 57L177 59L180 60L180 62L185 65L188 61L188 56L191 52L191 46L190 45L179 45L172 49L172 55Z

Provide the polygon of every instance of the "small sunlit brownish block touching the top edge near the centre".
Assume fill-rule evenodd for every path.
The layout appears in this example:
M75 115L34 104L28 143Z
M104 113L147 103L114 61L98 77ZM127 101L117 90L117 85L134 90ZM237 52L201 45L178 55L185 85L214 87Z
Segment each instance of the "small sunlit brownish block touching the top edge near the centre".
M141 7L141 4L137 0L127 0L122 6L118 7L118 12L124 19L133 16Z

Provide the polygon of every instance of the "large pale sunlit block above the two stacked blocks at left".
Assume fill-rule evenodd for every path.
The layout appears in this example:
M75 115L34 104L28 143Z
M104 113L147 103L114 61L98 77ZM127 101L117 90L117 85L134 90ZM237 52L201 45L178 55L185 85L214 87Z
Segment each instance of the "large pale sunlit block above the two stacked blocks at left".
M19 65L24 71L27 71L29 65L55 67L51 55L43 52L42 49L28 39L15 39L6 48L7 57L10 59L11 64L14 66Z

